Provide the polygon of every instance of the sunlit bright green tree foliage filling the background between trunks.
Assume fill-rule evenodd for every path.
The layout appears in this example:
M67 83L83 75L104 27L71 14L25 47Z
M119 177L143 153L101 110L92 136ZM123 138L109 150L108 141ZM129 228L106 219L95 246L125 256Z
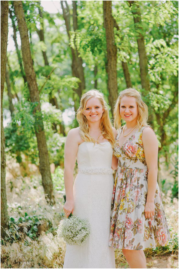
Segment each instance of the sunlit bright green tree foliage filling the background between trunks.
M10 8L13 9L10 1ZM41 3L42 4L42 3ZM83 59L85 85L87 91L94 87L97 79L97 88L100 88L108 102L106 74L106 36L103 26L103 7L101 1L77 1L78 29L74 32L71 23L71 39L68 41L63 14L44 11L39 1L23 1L23 8L27 20L27 26L31 34L31 49L33 51L34 69L40 92L42 118L49 148L50 162L55 166L63 166L64 138L55 134L52 124L60 124L63 121L62 114L69 113L70 118L65 122L66 133L70 128L77 127L74 119L75 102L77 94L75 89L80 83L78 78L72 76L71 47L77 47ZM42 19L39 16L39 8L43 13L44 39L39 40L36 30L40 29ZM139 1L141 24L136 30L127 1L113 1L112 15L120 30L114 27L115 44L117 54L117 79L119 92L126 88L124 72L121 61L128 64L130 78L133 87L143 94L143 99L149 107L150 123L159 140L159 155L165 157L165 166L175 155L178 133L178 1ZM69 4L70 14L72 5ZM17 25L15 14L13 13ZM10 27L12 27L10 25ZM140 27L142 29L140 29ZM150 93L141 89L141 77L139 67L139 55L137 36L142 31L148 58L148 75L150 79ZM44 66L42 51L46 52L49 66ZM10 80L12 94L15 97L15 122L5 128L6 151L20 162L19 152L29 156L31 162L38 164L38 150L35 138L34 122L41 122L34 118L33 104L29 102L29 91L20 74L20 67L15 52L8 53L10 65ZM98 71L95 76L94 69ZM55 68L55 70L53 70ZM53 70L49 79L50 72ZM59 109L49 105L49 98L55 97ZM34 104L35 106L36 104ZM8 96L6 89L3 98L3 111L5 119L8 118ZM64 116L63 115L63 116ZM37 115L38 116L38 115ZM59 127L57 126L58 132ZM176 163L176 162L175 162ZM174 170L174 169L173 169ZM176 169L175 169L176 170ZM171 175L174 175L172 172ZM176 174L175 174L176 178ZM172 190L172 197L177 197L177 181L168 182L163 179L163 191Z

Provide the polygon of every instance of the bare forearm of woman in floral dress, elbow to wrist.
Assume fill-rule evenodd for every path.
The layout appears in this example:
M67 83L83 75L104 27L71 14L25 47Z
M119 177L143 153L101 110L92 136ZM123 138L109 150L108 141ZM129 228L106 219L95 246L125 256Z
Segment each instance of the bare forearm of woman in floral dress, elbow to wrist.
M147 202L153 202L156 192L156 182L157 182L158 168L151 168L148 171L148 192L147 192Z

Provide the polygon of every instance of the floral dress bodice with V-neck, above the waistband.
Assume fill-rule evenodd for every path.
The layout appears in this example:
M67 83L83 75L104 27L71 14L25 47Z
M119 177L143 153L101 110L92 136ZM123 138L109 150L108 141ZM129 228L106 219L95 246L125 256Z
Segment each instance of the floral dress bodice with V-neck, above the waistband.
M118 140L120 139L120 134L122 132L121 127L117 132L115 139L115 146L113 149L113 154L115 157L119 158L120 167L128 168L139 168L147 169L143 143L142 143L142 131L144 128L150 128L149 126L143 126L140 130L137 130L130 136L120 148ZM151 128L152 129L152 128Z

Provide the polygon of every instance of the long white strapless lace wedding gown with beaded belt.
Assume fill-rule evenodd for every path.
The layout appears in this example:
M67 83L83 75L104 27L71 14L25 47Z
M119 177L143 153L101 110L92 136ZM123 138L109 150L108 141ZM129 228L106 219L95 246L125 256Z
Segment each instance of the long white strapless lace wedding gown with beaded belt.
M73 215L89 220L90 237L83 246L66 246L63 268L115 268L114 249L108 246L114 184L112 156L108 141L79 145Z

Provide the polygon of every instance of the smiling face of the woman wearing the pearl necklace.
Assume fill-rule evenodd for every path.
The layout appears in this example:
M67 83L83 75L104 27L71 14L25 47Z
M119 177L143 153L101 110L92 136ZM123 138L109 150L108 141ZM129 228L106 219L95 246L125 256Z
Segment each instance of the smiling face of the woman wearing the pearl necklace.
M137 122L138 107L135 97L122 97L120 102L120 115L126 122Z

